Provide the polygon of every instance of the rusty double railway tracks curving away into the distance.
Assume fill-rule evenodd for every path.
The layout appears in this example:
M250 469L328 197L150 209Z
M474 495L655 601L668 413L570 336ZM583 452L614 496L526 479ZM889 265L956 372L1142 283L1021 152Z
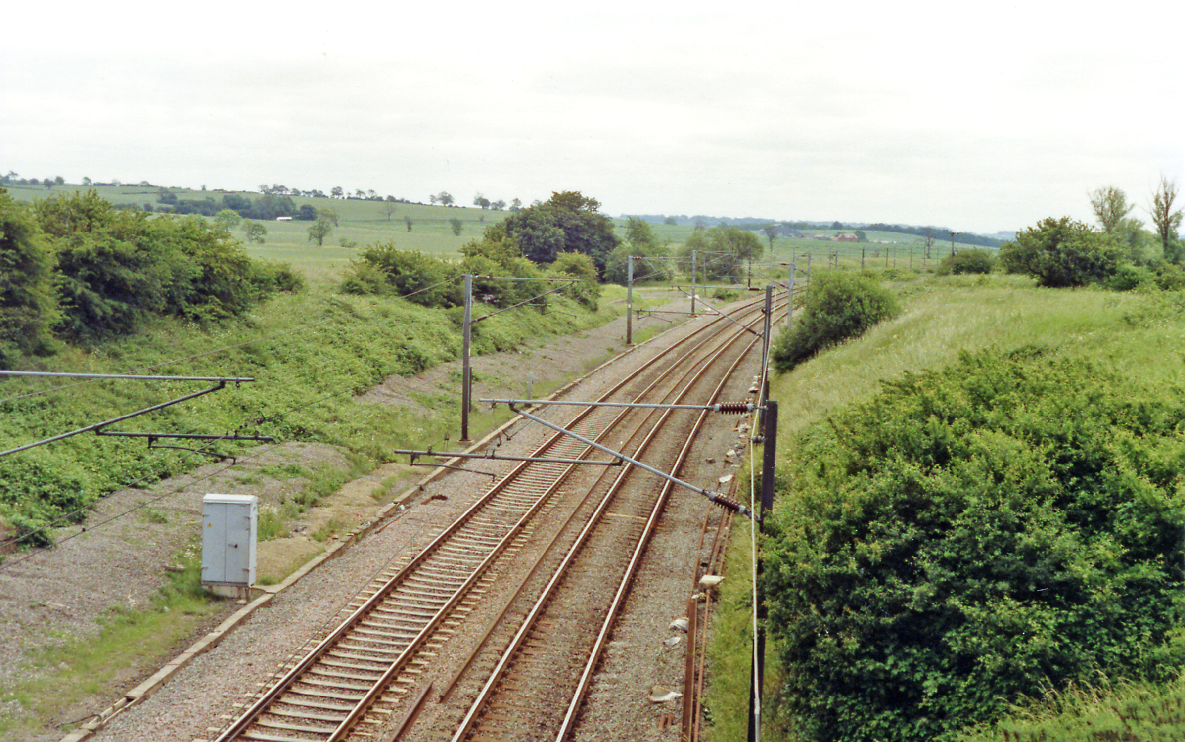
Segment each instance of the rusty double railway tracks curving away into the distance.
M715 398L724 384L722 379L731 376L757 343L742 326L760 326L760 309L749 306L730 321L715 320L601 399L666 402L690 397L702 402L709 388L713 389ZM731 365L719 370L713 362L726 348L739 346L744 351L735 352ZM693 369L698 371L692 372ZM594 441L611 436L614 447L636 456L648 450L665 424L687 416L684 411L659 414L594 407L565 421L564 427ZM686 436L685 442L690 443L692 437ZM679 460L686 455L687 447L683 448ZM607 459L606 454L563 434L551 436L531 458L602 462ZM446 730L451 725L454 740L539 738L491 736L510 734L507 730L513 730L515 723L495 731L499 714L489 709L500 703L507 708L521 705L523 702L507 701L515 683L526 690L544 677L539 673L557 667L583 667L577 685L587 685L596 666L596 646L603 645L611 628L614 606L627 594L632 575L628 565L622 571L620 556L604 555L628 554L624 561L636 563L670 495L670 482L655 498L654 476L641 476L649 485L639 485L639 473L628 465L595 467L600 469L596 475L577 472L579 466L524 461L513 467L418 554L391 565L372 582L351 603L348 615L303 658L293 661L282 677L220 731L217 741L423 738L402 735L415 727L422 704L434 697L434 690L440 708L430 722L433 736L448 738ZM678 467L675 461L671 471ZM539 548L540 540L546 542L546 548ZM524 565L526 554L530 563ZM598 565L598 562L613 564ZM609 573L617 576L608 581L615 587L597 615L600 631L584 631L591 625L587 614L574 620L555 613L556 606L564 605L562 594L603 593ZM507 581L517 589L507 590ZM489 622L491 631L474 645L463 666L453 671L451 682L435 689L427 684L442 647L472 613L494 600L502 605L500 616ZM525 601L534 607L524 612L519 605ZM584 600L585 605L590 602L600 599ZM569 634L561 638L557 626L562 623L576 625L576 634L591 634L591 650L581 650L585 655L583 661L572 653L550 654L544 661L542 652L549 647L589 645L569 640ZM518 629L512 637L511 628ZM491 654L501 657L492 674ZM529 667L538 672L530 674ZM487 698L485 689L478 691L474 678L479 677L492 678L485 685L501 695ZM558 683L551 685L559 692ZM562 728L568 729L578 711L581 692L563 692L569 696L569 721ZM457 718L463 709L468 709L465 718ZM412 734L422 733L423 728ZM557 738L564 733L559 734Z

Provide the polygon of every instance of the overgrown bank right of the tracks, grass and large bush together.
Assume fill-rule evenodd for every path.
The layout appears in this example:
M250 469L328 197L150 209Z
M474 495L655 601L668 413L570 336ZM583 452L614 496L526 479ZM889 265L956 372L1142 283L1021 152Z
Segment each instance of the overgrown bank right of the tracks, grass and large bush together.
M777 536L766 544L779 564L767 575L780 669L764 736L956 738L976 718L1013 714L1007 704L1043 683L1091 683L1100 671L1113 683L1171 680L1185 300L1011 279L950 279L903 299L899 319L771 391L783 409ZM1011 353L1024 346L1042 350ZM957 360L976 348L988 350ZM897 380L878 392L882 378ZM940 378L950 385L925 380ZM989 424L992 409L1010 411ZM748 591L737 577L720 619L737 628L717 635L722 740L744 734ZM1076 613L1089 618L1064 623Z

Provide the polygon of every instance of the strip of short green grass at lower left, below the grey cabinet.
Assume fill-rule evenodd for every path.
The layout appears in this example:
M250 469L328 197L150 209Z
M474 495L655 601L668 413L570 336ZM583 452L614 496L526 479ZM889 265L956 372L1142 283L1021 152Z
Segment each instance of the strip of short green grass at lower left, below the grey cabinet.
M220 609L220 601L204 590L201 563L190 557L180 573L153 597L152 606L113 609L100 620L97 637L71 639L28 655L27 667L36 679L0 689L0 703L15 702L20 711L0 717L0 737L21 738L44 734L46 727L71 727L76 704L90 696L109 693L124 682L133 663L156 666L172 657L193 631Z

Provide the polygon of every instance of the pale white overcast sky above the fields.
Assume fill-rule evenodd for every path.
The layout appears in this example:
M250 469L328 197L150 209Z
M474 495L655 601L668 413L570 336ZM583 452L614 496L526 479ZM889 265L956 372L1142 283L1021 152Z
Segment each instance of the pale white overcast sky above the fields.
M978 232L1185 183L1185 4L739 7L18 4L0 171Z

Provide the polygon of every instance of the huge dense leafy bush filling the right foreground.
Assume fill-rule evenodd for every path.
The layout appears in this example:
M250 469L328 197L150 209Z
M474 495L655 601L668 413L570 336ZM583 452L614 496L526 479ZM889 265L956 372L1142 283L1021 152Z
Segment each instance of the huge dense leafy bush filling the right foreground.
M1185 660L1181 390L1039 351L886 382L803 434L766 569L806 740L952 740Z

